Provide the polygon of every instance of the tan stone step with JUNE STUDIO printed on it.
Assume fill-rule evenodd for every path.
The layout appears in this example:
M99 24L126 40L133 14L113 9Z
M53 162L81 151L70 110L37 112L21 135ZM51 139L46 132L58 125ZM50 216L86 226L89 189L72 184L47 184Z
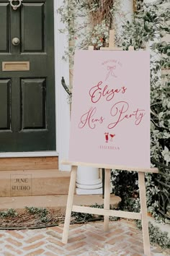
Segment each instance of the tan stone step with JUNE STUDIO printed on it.
M0 197L68 194L69 171L0 171L0 176Z

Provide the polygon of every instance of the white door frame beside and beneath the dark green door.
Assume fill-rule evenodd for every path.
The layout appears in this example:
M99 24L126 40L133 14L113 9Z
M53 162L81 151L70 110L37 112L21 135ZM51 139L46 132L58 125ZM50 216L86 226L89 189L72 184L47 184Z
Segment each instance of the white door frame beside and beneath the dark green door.
M63 0L53 0L54 5L54 51L55 51L55 132L56 150L36 151L36 152L4 152L0 153L0 158L38 157L38 156L58 156L58 168L61 171L69 171L69 166L61 165L62 158L68 158L69 130L70 130L70 106L68 95L61 85L61 77L69 83L69 63L63 61L62 56L68 48L67 34L61 34L59 29L63 29L60 15L57 9L61 7Z

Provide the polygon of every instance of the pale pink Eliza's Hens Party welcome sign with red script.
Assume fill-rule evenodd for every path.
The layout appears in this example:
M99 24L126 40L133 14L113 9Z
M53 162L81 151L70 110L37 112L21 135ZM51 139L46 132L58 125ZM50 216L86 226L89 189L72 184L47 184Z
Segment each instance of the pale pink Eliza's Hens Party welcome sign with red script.
M76 51L70 161L150 168L147 51Z

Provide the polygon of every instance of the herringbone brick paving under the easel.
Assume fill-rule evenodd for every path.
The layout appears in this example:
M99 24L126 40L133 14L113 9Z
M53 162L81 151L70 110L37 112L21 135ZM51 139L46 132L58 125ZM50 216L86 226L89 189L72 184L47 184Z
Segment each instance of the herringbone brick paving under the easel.
M134 221L110 221L70 226L68 244L61 242L63 225L45 229L0 231L0 256L142 256L143 239ZM151 246L152 256L165 255Z

